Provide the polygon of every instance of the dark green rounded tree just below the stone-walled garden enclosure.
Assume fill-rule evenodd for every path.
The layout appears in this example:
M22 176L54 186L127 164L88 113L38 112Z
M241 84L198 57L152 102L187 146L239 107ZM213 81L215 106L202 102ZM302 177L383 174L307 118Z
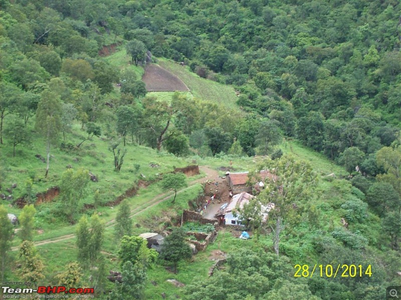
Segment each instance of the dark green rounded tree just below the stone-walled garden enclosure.
M180 227L174 228L161 245L160 258L172 262L174 273L177 272L178 261L192 256L192 249L185 243L184 237L185 233Z

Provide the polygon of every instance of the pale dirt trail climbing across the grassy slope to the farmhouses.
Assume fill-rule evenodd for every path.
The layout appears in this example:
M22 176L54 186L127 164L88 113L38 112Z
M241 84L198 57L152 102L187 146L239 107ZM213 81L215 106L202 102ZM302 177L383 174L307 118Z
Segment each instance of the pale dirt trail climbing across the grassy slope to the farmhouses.
M216 171L214 169L211 169L211 168L209 168L207 166L199 166L199 170L204 172L206 174L206 176L191 181L188 184L188 187L177 191L177 194L187 190L188 188L192 187L193 185L195 185L197 183L202 183L202 182L204 182L206 180L213 180L213 179L216 179L219 176L218 171ZM171 195L172 195L171 193L167 192L167 193L162 193L162 194L159 194L159 195L153 197L150 201L148 201L148 202L146 202L146 203L144 203L142 205L139 205L138 207L135 207L134 209L131 209L131 215L129 217L132 218L133 216L142 213L143 211L145 211L145 210L147 210L147 209L159 204L160 202L163 202L163 201L167 200L168 198L171 197ZM160 197L163 197L163 198L160 199ZM115 224L115 219L111 219L110 221L106 222L106 228L110 228L110 227L114 226L114 224ZM53 238L44 239L44 240L41 240L41 241L36 241L34 244L35 244L35 246L41 246L41 245L46 245L46 244L50 244L50 243L57 243L57 242L60 242L60 241L66 240L66 239L73 238L73 237L75 237L74 233L66 234L66 235L62 235L62 236L59 236L59 237L53 237ZM18 249L19 249L19 246L11 248L12 251L16 251Z

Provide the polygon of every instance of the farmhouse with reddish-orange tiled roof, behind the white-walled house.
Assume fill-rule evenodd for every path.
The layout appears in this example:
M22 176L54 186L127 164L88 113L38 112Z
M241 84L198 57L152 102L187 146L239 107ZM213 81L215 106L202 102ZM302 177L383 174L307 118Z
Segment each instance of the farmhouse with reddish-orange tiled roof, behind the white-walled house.
M252 192L252 186L247 185L248 173L249 172L226 173L227 183L229 184L229 187L233 191L233 193L236 194L241 192L247 192L247 193ZM277 176L270 173L269 170L260 171L259 176L261 177L262 181L255 182L253 186L257 191L260 191L260 189L263 188L263 186L265 185L264 182L266 181L266 178L270 178L273 180L277 178Z

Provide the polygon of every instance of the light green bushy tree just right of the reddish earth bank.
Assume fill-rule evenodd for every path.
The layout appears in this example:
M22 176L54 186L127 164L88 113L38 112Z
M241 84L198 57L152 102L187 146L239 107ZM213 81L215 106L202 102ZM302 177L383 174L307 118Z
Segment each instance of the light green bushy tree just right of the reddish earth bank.
M65 214L71 222L75 219L79 202L86 195L86 188L90 181L88 170L79 168L68 169L63 173L60 182L60 201Z

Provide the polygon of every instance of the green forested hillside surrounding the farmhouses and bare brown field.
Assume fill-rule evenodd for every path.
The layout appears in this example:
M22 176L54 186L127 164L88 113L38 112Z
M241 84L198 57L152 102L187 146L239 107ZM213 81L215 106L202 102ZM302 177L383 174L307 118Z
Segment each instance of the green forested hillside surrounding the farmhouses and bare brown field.
M103 299L384 298L401 271L400 14L396 0L0 0L2 279ZM152 62L190 92L147 93ZM120 233L176 225L199 178L174 203L158 181L192 161L277 171L258 201L280 208L258 222L253 202L253 240L224 228L175 274ZM110 208L124 193L129 211ZM298 278L296 264L361 273Z

